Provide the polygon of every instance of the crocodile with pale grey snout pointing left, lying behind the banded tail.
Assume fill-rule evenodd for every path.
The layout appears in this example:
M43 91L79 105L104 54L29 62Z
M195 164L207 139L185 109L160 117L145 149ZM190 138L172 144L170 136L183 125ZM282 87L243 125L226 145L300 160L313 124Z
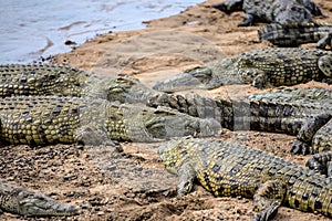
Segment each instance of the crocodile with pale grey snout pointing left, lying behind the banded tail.
M178 74L153 88L175 92L248 84L256 87L281 86L332 78L332 52L319 49L274 48L241 53Z

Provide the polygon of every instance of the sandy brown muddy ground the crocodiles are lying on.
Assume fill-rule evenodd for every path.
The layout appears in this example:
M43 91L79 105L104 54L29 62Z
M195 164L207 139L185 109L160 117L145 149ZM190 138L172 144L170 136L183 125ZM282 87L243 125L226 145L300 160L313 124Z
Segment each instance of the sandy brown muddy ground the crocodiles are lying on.
M148 28L96 36L70 53L51 59L106 75L128 74L151 86L186 69L245 51L270 46L259 42L259 25L238 28L242 12L225 14L206 8L217 0L190 7L184 12L147 21ZM317 0L332 21L332 1ZM304 45L313 46L313 44ZM310 82L301 87L331 87ZM228 86L200 91L207 96L239 96L264 93L251 86ZM193 93L193 92L186 92ZM257 131L222 130L216 139L250 145L304 165L308 156L289 154L294 137ZM40 148L1 147L1 178L40 190L81 209L71 218L22 218L4 213L1 220L250 220L252 201L214 198L200 186L186 197L176 197L176 177L157 156L160 144L123 143L124 152L113 147L90 148L55 145ZM276 220L329 220L281 207Z

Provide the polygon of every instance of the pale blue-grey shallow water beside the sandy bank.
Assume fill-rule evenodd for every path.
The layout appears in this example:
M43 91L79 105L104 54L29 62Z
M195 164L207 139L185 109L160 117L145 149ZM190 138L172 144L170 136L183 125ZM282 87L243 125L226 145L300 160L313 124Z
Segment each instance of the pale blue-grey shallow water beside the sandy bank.
M68 52L96 34L141 29L203 0L0 0L0 63Z

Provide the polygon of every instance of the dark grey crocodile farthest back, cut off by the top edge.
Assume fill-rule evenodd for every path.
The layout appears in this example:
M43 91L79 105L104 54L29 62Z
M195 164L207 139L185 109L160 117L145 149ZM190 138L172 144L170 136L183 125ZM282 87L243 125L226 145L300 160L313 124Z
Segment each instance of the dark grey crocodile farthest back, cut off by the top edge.
M227 0L212 4L226 13L245 11L245 20L239 27L253 25L256 22L268 23L307 23L313 17L325 17L320 8L310 0Z

